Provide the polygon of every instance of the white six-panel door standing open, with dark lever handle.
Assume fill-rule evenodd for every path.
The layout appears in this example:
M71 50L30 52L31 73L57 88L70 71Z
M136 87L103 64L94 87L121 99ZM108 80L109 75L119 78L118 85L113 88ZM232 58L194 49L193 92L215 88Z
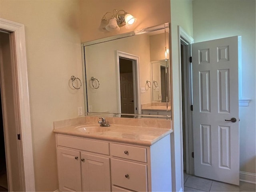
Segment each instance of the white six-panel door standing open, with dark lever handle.
M238 36L192 44L192 71L195 175L239 185Z

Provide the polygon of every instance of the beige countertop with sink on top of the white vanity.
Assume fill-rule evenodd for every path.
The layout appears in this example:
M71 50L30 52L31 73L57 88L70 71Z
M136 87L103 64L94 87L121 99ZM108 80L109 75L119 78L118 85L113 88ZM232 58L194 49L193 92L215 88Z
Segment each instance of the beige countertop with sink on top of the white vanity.
M91 131L83 132L83 126L90 126ZM79 128L77 128L79 127ZM93 128L92 128L93 127ZM97 132L94 128L106 128L107 131ZM147 128L137 126L110 125L110 127L100 127L99 124L76 124L55 128L54 133L99 140L126 142L130 144L140 144L151 146L161 138L172 133L172 129L166 128Z

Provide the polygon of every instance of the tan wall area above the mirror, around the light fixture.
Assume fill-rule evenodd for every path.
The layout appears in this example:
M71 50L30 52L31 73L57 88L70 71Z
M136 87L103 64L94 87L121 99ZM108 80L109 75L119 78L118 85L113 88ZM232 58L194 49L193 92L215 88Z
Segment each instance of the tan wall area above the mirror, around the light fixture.
M170 22L170 0L82 0L80 3L82 42ZM101 32L98 28L102 16L114 9L125 10L138 18L136 26L130 30L123 26L119 32Z

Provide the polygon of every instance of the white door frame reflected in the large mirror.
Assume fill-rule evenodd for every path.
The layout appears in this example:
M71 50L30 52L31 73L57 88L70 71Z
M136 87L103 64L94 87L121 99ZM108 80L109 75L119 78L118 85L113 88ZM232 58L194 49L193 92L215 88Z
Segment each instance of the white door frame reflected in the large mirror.
M134 92L134 114L141 114L141 105L140 105L140 84L139 84L139 56L132 55L129 53L116 51L116 71L117 71L117 96L118 96L118 113L121 113L121 91L120 91L120 64L119 58L127 58L132 60L132 76L133 76L133 92ZM137 108L137 112L136 112Z

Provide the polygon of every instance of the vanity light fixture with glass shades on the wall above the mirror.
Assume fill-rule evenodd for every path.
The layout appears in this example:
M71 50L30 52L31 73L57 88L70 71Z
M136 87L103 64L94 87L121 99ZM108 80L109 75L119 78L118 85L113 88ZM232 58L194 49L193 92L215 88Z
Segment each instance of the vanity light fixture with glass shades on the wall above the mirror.
M110 18L106 18L107 14L111 14ZM125 25L126 29L132 28L136 23L136 18L124 10L113 10L113 13L106 12L100 22L100 30L119 31L120 27Z

